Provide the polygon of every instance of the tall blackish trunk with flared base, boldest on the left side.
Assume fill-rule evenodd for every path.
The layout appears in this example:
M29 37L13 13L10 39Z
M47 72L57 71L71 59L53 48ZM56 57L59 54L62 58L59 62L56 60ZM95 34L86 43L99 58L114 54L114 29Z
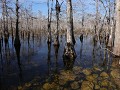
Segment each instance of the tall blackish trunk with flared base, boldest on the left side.
M16 0L16 35L14 45L17 47L20 46L20 38L19 38L19 3Z

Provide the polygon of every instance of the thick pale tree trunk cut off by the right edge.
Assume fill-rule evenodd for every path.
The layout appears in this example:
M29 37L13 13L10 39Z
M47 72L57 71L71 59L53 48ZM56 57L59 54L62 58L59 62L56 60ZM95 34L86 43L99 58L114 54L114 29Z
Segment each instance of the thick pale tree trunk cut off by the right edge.
M113 52L120 56L120 0L116 0L116 30Z

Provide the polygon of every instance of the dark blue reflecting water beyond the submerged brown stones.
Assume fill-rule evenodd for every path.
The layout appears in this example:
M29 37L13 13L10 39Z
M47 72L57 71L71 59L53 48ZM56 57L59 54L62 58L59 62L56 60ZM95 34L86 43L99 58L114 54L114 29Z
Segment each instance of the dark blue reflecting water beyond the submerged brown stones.
M65 36L60 37L60 47L55 48L53 44L47 45L45 36L30 39L21 39L20 53L12 45L2 46L0 56L0 85L1 88L17 87L31 81L39 76L44 82L50 74L59 72L62 69L69 69L74 66L92 68L97 65L109 68L110 62L104 63L104 50L98 44L94 46L92 36L84 36L80 42L76 36L75 50L77 58L74 61L63 60ZM107 59L108 60L108 59ZM111 61L111 60L110 60Z

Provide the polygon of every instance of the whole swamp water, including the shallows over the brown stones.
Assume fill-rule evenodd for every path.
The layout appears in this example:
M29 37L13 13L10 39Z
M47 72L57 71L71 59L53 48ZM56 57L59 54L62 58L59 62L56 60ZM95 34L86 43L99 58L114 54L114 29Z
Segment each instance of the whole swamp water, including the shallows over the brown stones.
M94 45L92 36L83 42L76 36L75 60L63 60L65 36L60 37L60 47L47 45L45 36L21 39L20 49L15 49L12 39L1 48L0 90L114 90L110 82L112 55ZM104 46L104 45L103 45ZM109 84L110 87L109 87ZM86 88L86 89L85 89ZM117 90L117 89L116 89Z

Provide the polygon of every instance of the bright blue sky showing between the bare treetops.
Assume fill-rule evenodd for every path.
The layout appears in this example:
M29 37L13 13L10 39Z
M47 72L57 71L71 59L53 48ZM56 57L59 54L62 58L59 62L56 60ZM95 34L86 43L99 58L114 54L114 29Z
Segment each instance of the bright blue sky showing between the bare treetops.
M13 0L13 2L15 2L16 0ZM63 2L62 4L62 10L66 9L66 0L58 0L60 3ZM78 2L80 0L72 0L73 3ZM95 12L95 5L93 5L95 2L94 0L81 0L82 2L84 2L87 6L85 6L85 12L87 13L94 13ZM38 14L38 11L41 11L43 15L47 15L47 0L19 0L19 2L21 3L21 5L24 8L28 8L29 5L32 5L32 11L34 13L34 15ZM55 0L54 0L54 4L55 4ZM91 5L92 4L92 5ZM81 5L78 4L77 6L77 12L79 12L81 9Z

